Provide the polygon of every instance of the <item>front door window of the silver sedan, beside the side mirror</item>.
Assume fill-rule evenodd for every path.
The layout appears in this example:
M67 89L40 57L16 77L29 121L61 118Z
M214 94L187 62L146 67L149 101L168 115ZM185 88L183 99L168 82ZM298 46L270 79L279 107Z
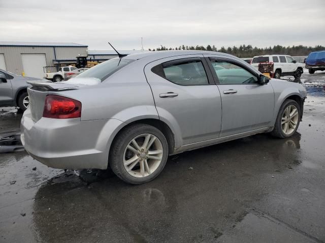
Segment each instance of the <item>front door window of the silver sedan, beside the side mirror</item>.
M211 61L220 84L255 84L257 77L246 69L226 61Z

